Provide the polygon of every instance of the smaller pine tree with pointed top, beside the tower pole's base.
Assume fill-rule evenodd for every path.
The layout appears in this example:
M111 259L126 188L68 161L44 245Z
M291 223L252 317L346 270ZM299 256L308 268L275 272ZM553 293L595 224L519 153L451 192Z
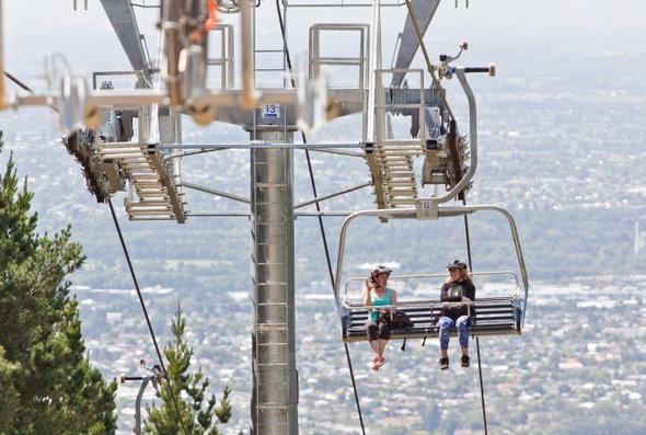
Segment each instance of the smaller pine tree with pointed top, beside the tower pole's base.
M159 408L154 403L148 407L148 420L143 427L147 434L218 435L218 422L227 423L231 417L229 387L224 388L219 405L215 394L205 403L206 390L210 384L208 378L203 375L201 368L193 374L188 373L193 348L183 340L185 327L182 308L177 307L171 322L174 342L170 342L164 348L168 381L155 386L155 396L162 403Z

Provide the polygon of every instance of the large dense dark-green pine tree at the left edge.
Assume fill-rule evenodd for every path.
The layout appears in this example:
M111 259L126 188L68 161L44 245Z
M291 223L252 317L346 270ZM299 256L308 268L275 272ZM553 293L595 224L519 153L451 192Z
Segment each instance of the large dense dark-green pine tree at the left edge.
M90 366L64 281L81 266L81 247L69 226L38 236L33 194L19 184L10 154L0 176L0 433L114 434L117 384Z

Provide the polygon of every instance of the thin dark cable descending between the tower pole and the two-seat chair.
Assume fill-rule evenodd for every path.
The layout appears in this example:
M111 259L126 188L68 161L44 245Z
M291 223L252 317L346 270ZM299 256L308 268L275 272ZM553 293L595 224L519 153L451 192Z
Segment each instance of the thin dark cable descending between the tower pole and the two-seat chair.
M293 69L291 66L291 56L289 54L289 46L287 45L287 34L285 32L285 22L282 20L282 14L280 13L280 4L279 4L280 0L276 0L276 12L278 14L278 22L280 24L280 35L282 36L282 49L285 50L285 58L287 60L287 67L289 70L289 76L290 76L290 81L291 81L291 87L296 88L297 83L296 80L293 78ZM305 133L303 130L301 130L301 137L303 140L303 144L308 142ZM310 159L310 151L309 149L305 148L305 158L308 161L308 171L310 173L310 182L312 185L312 195L314 196L314 205L316 207L316 213L319 214L318 216L318 220L319 220L319 228L321 230L321 240L323 242L323 249L325 251L325 260L327 262L327 272L330 273L330 283L332 285L332 293L334 294L334 271L332 268L332 260L330 257L330 249L327 245L327 237L325 236L325 226L323 225L323 216L321 215L321 204L319 201L316 201L316 198L319 197L319 194L316 192L316 181L314 180L314 170L312 168L312 161ZM344 347L345 347L345 354L346 354L346 359L348 362L348 369L350 371L350 379L353 382L353 391L355 394L355 403L357 405L357 413L359 414L359 424L361 425L361 433L364 435L366 435L366 426L364 424L364 415L361 413L361 405L359 402L359 393L358 393L358 389L357 389L357 382L355 380L355 371L353 369L353 360L350 357L350 350L348 347L347 343L344 343Z

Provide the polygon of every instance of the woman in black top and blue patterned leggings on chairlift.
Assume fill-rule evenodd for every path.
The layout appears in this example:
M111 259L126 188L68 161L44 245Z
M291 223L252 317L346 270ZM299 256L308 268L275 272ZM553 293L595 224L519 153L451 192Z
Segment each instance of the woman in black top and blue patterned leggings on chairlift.
M440 368L449 368L449 332L451 328L458 330L458 340L462 347L460 365L469 367L469 331L468 328L475 318L472 305L475 300L475 286L462 260L453 260L447 266L449 278L442 285L440 300L448 302L442 306L442 317L438 321L440 337ZM461 304L460 304L461 302Z

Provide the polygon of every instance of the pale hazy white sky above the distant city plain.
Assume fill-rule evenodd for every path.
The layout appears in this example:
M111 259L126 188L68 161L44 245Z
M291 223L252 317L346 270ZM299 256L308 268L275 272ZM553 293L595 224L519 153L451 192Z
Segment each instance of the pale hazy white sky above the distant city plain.
M83 0L78 2L79 8L74 11L72 0L4 0L5 69L27 75L31 80L43 70L43 58L51 51L65 54L77 71L92 70L100 65L113 69L127 68L126 58L99 0L89 0L86 11L82 8ZM300 4L304 2L307 0L299 0ZM147 3L154 4L151 1ZM460 41L469 41L469 60L474 65L506 61L509 57L539 57L537 65L540 65L540 57L551 61L558 55L586 56L596 51L605 55L614 51L614 56L619 56L620 51L630 51L642 60L646 58L644 0L470 0L470 8L464 5L465 0L459 0L459 8L454 7L454 0L440 3L425 37L434 60L440 51L451 53ZM262 9L268 11L268 25L277 25L275 2L263 0ZM405 7L385 9L385 47L392 45L396 32L401 30L405 10ZM149 44L154 45L153 23L158 11L145 12L140 8L136 11L141 19L140 31L148 35ZM309 25L308 20L311 21L299 19L303 13L315 14L320 22L367 22L370 9L291 8L289 18L290 23L295 23L290 27L295 44L307 42L307 33L298 33L298 23L305 25L307 22ZM238 15L222 15L222 20L235 22ZM301 47L295 50L299 51ZM385 48L384 53L384 58L390 59L392 49ZM91 68L88 69L88 66ZM553 67L558 68L557 65Z

